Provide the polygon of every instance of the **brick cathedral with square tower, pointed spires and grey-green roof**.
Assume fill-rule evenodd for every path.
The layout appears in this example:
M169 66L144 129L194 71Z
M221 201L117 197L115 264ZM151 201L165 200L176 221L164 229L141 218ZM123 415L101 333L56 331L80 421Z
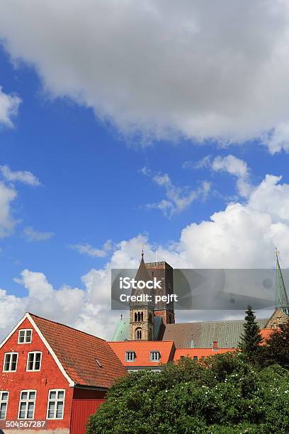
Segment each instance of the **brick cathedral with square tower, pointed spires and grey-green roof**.
M276 257L275 310L270 318L257 319L260 329L277 328L289 317L288 296L278 255ZM147 282L154 277L162 281L161 289L154 289L154 296L149 301L130 301L130 317L122 317L118 322L113 341L174 341L176 348L238 347L244 320L176 323L174 301L154 303L155 296L162 299L162 296L174 294L174 269L166 262L145 263L142 252L135 280ZM132 290L132 295L139 294L140 289Z

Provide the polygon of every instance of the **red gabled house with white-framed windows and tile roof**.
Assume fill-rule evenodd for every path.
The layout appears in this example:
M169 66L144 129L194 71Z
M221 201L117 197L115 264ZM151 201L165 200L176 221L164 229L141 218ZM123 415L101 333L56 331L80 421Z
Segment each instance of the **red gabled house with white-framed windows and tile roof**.
M0 345L4 433L84 434L125 367L105 340L31 313Z

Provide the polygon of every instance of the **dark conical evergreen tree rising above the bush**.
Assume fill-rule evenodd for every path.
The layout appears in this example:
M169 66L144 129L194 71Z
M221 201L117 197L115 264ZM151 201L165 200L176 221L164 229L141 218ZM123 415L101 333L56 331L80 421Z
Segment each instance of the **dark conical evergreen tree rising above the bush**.
M256 361L262 341L263 339L261 337L259 325L256 322L255 313L252 311L251 306L248 306L244 322L244 332L242 333L239 342L239 348L242 350L244 355L248 357L250 362Z

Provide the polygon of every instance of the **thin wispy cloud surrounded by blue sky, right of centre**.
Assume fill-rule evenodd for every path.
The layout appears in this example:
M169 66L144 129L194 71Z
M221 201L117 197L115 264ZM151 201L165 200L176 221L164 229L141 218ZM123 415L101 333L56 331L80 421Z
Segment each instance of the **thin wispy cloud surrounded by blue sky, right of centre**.
M147 204L147 208L161 210L166 217L171 217L176 213L181 213L190 206L196 199L205 199L210 191L210 182L200 182L196 189L179 187L171 182L168 174L153 175L147 168L141 170L143 174L152 177L152 180L160 187L164 187L166 199L162 199L157 204Z

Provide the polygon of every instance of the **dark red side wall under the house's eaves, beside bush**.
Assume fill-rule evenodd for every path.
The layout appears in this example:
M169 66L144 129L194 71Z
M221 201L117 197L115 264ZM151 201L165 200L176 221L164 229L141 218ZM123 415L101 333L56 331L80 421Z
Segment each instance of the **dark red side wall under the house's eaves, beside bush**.
M106 401L105 399L74 399L72 401L72 419L70 434L86 434L89 416Z

